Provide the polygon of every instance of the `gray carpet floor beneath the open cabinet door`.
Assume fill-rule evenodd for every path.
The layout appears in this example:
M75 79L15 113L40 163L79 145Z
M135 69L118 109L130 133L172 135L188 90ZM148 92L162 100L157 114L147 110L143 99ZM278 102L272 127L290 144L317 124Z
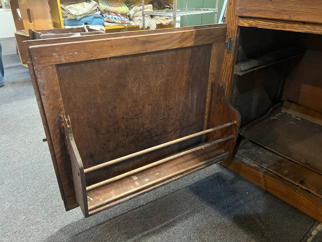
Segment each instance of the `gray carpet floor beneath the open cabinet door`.
M66 212L28 69L1 43L0 241L322 241L314 219L219 164L90 218Z

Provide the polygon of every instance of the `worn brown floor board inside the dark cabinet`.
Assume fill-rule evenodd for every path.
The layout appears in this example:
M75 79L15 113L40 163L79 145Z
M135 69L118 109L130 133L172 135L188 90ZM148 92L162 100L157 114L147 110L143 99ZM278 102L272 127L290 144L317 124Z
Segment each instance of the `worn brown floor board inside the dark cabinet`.
M280 109L241 129L242 136L322 174L322 126Z

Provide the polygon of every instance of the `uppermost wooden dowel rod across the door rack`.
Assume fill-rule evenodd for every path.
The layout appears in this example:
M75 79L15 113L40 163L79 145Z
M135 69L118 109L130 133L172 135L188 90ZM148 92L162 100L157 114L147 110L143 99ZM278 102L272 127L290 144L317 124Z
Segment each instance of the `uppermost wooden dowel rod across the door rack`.
M213 127L213 128L210 128L210 129L206 129L204 131L201 131L201 132L198 132L198 133L195 133L195 134L192 134L192 135L188 135L188 136L185 136L185 137L182 137L182 138L179 138L179 139L175 139L175 140L166 142L166 143L161 144L161 145L153 146L151 148L147 148L145 150L141 150L141 151L132 153L132 154L127 155L127 156L122 156L120 158L117 158L117 159L114 159L114 160L110 160L110 161L104 162L102 164L99 164L99 165L92 166L92 167L89 167L87 169L84 169L84 173L86 174L86 173L89 173L91 171L95 171L95 170L98 170L100 168L103 168L103 167L106 167L106 166L110 166L110 165L116 164L118 162L121 162L121 161L130 159L130 158L133 158L133 157L136 157L136 156L144 155L144 154L146 154L148 152L151 152L151 151L154 151L154 150L157 150L157 149L161 149L161 148L164 148L166 146L174 145L176 143L179 143L181 141L185 141L187 139L191 139L191 138L194 138L194 137L197 137L197 136L200 136L200 135L204 135L204 134L213 132L213 131L215 131L217 129L221 129L221 128L224 128L224 127L232 126L234 124L236 124L236 121L233 121L233 122L230 122L230 123L227 123L227 124L223 124L223 125L220 125L220 126L217 126L217 127Z

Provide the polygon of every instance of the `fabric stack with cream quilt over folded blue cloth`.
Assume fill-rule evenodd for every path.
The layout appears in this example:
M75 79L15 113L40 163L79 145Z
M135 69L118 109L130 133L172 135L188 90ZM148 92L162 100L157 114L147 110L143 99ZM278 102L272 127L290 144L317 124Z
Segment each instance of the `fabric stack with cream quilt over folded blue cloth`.
M61 0L64 25L103 25L98 3L93 0Z

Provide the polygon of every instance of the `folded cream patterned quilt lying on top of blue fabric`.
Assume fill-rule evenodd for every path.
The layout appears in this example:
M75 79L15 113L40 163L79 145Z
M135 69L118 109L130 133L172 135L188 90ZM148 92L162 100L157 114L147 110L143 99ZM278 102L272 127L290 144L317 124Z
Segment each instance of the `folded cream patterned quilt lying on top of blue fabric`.
M95 12L97 7L98 7L98 3L93 0L90 2L84 1L81 3L64 1L64 3L61 4L62 13L64 15L67 15L68 13L70 13L75 17L76 20L79 20L80 18L85 17L87 14Z

